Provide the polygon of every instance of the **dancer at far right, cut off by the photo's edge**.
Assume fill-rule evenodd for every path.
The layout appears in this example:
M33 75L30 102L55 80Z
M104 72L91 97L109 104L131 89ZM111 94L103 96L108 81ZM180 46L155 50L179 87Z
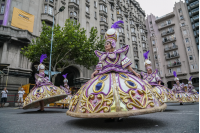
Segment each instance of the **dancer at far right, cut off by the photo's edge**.
M188 81L188 84L186 84L186 87L193 101L199 102L199 94L197 93L197 91L194 89L194 86L192 85L192 76L189 78L189 81Z

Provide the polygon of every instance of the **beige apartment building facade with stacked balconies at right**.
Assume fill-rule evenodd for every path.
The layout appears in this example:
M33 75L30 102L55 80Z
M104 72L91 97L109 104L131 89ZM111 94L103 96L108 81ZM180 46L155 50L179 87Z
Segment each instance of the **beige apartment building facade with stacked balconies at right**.
M187 5L180 1L164 16L147 15L146 25L152 66L164 85L172 88L176 71L181 82L193 76L199 86L199 56Z

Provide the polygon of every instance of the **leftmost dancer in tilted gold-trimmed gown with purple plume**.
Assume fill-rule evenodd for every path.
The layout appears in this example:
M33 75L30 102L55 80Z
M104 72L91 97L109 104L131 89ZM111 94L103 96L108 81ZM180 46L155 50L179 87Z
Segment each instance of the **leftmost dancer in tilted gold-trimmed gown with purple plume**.
M44 106L49 103L54 103L60 99L64 99L67 94L64 90L56 87L45 77L45 65L42 64L46 58L46 54L42 54L40 64L38 65L39 74L35 74L35 86L31 89L24 101L23 109L36 108L40 106L38 111L44 111Z

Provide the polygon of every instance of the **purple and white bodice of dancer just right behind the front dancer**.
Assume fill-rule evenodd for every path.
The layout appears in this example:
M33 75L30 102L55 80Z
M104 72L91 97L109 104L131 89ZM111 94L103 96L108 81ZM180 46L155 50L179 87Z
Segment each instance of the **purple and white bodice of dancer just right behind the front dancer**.
M141 75L143 76L143 79L149 82L149 84L151 85L156 85L158 84L159 81L162 81L161 78L157 74L157 70L155 70L151 74L141 72Z

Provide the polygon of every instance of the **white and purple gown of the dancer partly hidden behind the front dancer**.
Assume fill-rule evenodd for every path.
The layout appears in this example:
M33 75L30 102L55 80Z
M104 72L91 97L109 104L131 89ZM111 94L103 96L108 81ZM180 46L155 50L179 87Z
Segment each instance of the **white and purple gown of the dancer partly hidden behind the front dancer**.
M158 76L157 70L151 74L142 72L141 75L143 76L143 80L146 80L153 87L154 94L158 98L161 98L162 102L178 102L171 89L158 84L158 82L162 80Z

